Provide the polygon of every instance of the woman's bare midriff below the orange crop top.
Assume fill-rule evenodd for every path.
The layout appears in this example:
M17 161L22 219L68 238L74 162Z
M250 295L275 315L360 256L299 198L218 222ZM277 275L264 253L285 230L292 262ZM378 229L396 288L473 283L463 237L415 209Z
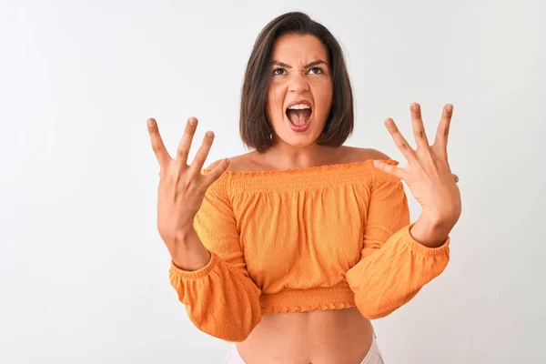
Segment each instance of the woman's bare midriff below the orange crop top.
M263 315L237 348L247 364L359 364L372 338L358 308L316 309Z

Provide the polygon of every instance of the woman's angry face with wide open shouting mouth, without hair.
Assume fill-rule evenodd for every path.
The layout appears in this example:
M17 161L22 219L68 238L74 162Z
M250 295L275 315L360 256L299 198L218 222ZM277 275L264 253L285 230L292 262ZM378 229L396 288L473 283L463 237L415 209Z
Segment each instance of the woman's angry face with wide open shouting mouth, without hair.
M274 139L308 147L322 133L332 103L328 51L314 35L282 35L271 61L268 116Z

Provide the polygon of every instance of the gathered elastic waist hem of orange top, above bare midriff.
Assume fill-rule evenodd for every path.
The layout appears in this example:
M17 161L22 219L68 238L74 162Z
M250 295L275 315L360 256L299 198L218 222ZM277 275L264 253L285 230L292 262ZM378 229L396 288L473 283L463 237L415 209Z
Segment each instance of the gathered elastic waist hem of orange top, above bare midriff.
M325 288L287 288L274 294L262 294L259 299L262 314L357 307L354 292L348 283Z

